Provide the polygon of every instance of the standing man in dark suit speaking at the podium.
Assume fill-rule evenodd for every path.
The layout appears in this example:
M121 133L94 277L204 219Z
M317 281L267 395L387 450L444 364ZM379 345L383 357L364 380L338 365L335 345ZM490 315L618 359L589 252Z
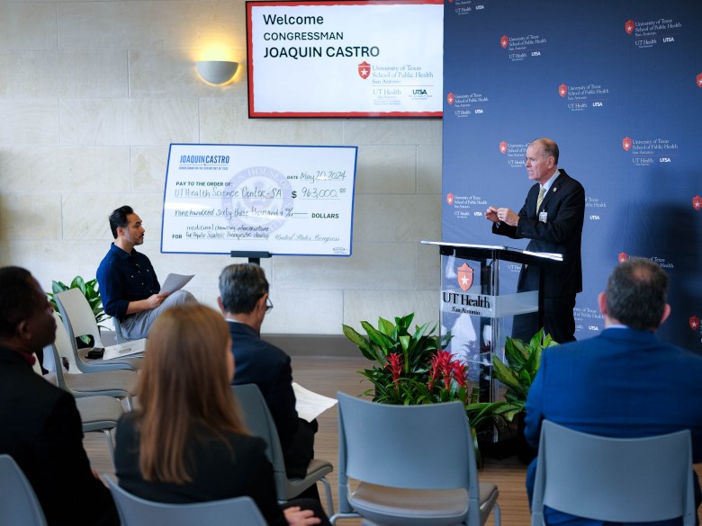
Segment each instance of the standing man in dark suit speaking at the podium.
M537 138L527 147L527 174L535 181L522 210L489 207L485 217L492 232L513 239L530 239L527 250L563 255L563 263L543 268L544 308L515 316L512 337L529 341L541 328L558 343L575 340L575 295L582 290L581 237L585 218L585 190L565 170L558 169L558 145ZM524 265L518 292L538 290L539 269Z

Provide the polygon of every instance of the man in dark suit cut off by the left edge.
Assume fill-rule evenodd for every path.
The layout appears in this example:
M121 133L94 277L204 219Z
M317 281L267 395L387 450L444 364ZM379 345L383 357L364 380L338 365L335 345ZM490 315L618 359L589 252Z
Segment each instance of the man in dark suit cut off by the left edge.
M53 308L30 272L0 269L0 453L22 468L49 526L117 525L83 449L76 401L31 369L55 335Z

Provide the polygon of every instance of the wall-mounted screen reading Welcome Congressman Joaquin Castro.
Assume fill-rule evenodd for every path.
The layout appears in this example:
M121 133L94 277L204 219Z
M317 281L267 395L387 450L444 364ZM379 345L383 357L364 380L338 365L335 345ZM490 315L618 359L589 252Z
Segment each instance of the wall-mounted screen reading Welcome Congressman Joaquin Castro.
M441 0L247 2L248 116L441 117Z

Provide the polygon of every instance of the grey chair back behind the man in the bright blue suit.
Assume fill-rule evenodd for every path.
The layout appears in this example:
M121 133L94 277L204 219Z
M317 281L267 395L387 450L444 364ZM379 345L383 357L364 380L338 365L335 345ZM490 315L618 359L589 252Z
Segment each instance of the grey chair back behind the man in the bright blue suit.
M644 438L609 438L542 423L532 526L544 506L604 522L653 522L697 512L689 430Z

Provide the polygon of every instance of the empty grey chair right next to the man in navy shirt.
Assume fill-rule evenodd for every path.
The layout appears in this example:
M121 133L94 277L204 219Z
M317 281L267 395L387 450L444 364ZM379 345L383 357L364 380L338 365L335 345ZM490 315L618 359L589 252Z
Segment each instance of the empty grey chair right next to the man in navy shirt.
M98 370L129 369L139 370L143 358L138 356L119 358L114 360L87 361L85 355L90 349L78 349L76 336L93 336L94 347L104 347L100 337L100 328L97 326L93 309L78 289L68 289L58 292L56 296L58 311L61 313L63 325L69 336L73 358L70 359L71 367L74 365L81 372L95 372Z

